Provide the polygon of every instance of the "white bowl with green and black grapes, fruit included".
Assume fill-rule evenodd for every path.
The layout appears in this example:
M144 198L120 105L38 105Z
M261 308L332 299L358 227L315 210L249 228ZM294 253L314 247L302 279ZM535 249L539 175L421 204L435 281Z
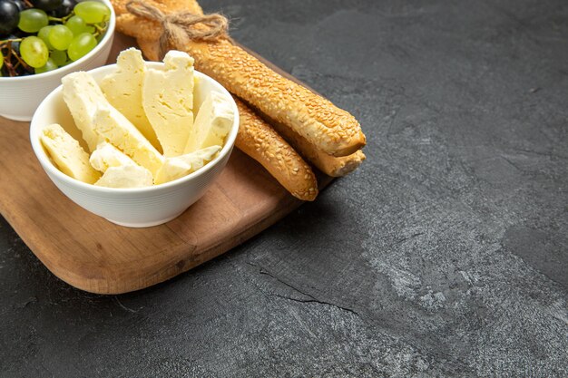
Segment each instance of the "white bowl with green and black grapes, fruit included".
M30 121L62 77L104 65L114 25L109 0L0 0L0 116Z

